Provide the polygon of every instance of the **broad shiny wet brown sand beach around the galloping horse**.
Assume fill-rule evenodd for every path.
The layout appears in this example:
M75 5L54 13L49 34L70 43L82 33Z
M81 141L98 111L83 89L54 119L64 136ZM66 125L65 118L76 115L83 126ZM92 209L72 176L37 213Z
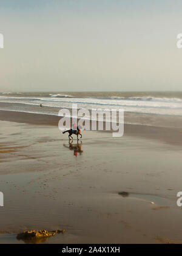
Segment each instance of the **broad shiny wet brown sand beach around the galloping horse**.
M58 117L22 114L0 116L0 243L27 229L66 229L44 243L182 242L180 129L83 131L77 145Z

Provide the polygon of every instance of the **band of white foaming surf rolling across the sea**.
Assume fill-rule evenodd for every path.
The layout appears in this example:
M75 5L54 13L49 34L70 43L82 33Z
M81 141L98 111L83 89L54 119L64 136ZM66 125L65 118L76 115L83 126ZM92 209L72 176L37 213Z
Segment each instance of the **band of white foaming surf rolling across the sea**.
M18 109L18 104L27 105L27 108L28 106L30 108L31 106L39 106L40 103L48 108L72 108L72 104L76 103L78 108L89 110L101 108L104 111L105 109L124 108L126 112L182 116L182 99L177 97L150 97L147 95L145 97L78 98L66 94L50 94L47 97L41 97L40 95L31 97L27 94L27 97L25 95L22 95L22 97L0 95L1 102L12 103L12 108L15 106L16 109ZM41 111L47 111L47 109L42 108Z

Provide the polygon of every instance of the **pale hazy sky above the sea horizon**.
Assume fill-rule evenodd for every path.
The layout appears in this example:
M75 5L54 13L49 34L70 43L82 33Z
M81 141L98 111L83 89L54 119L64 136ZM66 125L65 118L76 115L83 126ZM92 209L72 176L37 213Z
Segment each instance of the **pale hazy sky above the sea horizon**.
M181 0L1 0L0 91L182 89Z

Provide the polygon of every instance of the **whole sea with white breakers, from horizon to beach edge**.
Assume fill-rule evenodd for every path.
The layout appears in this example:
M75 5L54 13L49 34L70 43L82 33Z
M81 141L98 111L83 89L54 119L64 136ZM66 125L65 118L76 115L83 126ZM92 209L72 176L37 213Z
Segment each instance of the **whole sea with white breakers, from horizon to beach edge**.
M40 104L43 108L40 108ZM59 109L94 109L149 116L182 117L182 92L1 92L0 110L58 115ZM132 123L135 118L127 120ZM140 122L143 124L143 122Z

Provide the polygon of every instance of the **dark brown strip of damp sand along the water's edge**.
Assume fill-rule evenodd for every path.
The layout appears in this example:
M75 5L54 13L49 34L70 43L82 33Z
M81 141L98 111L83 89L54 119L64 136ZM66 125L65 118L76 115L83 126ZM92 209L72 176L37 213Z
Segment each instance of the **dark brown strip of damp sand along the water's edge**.
M15 111L0 111L0 120L29 123L31 125L49 125L58 126L61 119L59 116L52 116L47 114L33 114L26 112ZM91 121L90 121L91 123ZM97 121L98 124L98 121ZM106 125L106 123L104 123ZM105 126L104 125L104 126ZM97 125L98 127L98 125ZM112 132L106 131L106 132ZM124 136L139 136L145 139L160 140L167 144L182 145L182 128L139 125L124 123Z

